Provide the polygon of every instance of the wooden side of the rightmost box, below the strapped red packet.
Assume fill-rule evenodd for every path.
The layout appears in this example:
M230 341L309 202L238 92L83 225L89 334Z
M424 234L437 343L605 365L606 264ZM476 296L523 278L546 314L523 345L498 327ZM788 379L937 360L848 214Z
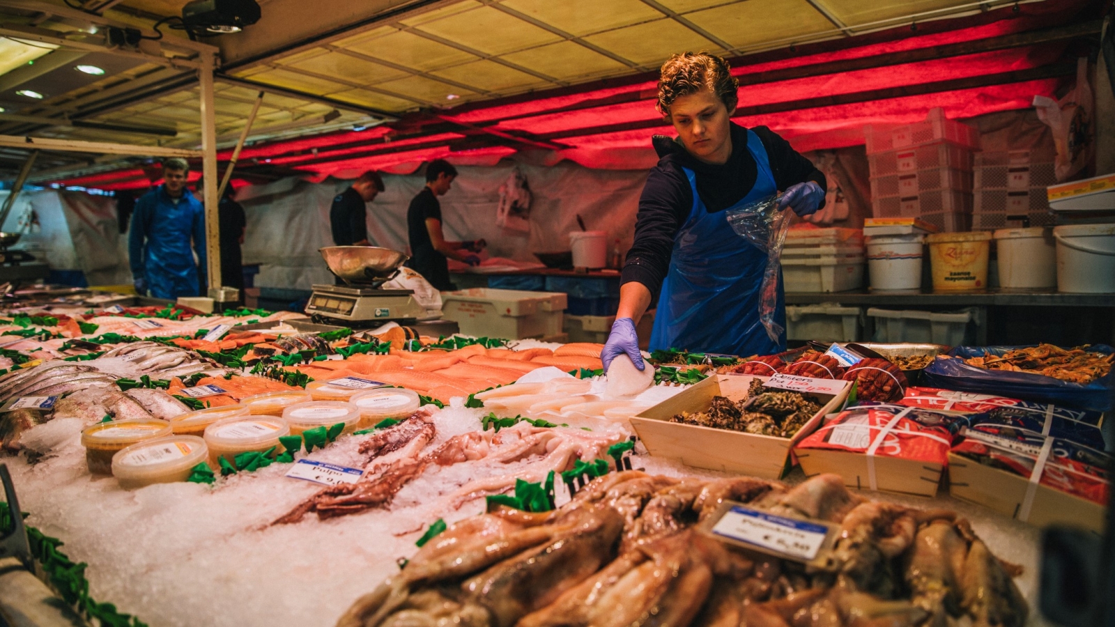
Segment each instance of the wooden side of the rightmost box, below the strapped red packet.
M1018 518L1029 479L949 454L949 493L960 499ZM1072 524L1103 533L1106 508L1060 490L1038 484L1025 521L1035 527Z

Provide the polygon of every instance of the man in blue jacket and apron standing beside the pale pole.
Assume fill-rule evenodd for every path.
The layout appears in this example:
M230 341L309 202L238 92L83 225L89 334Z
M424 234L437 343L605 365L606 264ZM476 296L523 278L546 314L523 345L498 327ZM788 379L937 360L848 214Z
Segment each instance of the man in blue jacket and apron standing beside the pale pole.
M205 210L186 192L190 164L184 158L163 162L163 184L136 201L128 233L128 258L136 292L176 299L198 295L205 273ZM193 249L191 249L193 242Z

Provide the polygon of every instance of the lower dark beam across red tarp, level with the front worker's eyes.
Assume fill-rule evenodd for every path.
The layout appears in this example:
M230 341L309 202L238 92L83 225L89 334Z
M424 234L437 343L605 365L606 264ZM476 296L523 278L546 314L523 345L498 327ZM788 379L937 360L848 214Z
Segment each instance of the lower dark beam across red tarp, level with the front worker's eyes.
M736 109L736 113L733 115L733 117L768 115L773 113L804 110L818 107L831 107L836 105L852 105L859 103L870 103L874 100L902 98L906 96L922 96L925 94L937 94L941 91L958 91L961 89L972 89L977 87L990 87L992 85L1026 83L1028 80L1039 80L1043 78L1058 78L1061 76L1073 76L1075 74L1076 74L1075 61L1063 62L1032 69L1005 71L1001 74L991 74L986 76L953 78L949 80L938 80L934 83L908 85L904 87L888 87L884 89L872 89L870 91L855 91L852 94L822 96L818 98L806 98L801 100L791 100L786 103L770 103L767 105L739 107ZM594 126L588 128L570 128L568 131L540 134L539 137L547 141L562 139L565 137L582 137L584 135L603 135L607 133L620 133L623 131L640 131L643 128L656 128L659 126L669 126L669 123L663 122L661 118L656 118L641 122L626 122L622 124Z

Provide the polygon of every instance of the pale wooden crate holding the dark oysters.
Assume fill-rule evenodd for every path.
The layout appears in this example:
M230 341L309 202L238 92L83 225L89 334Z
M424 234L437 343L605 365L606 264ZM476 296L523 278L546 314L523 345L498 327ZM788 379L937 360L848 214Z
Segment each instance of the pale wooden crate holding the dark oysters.
M651 455L678 460L700 469L780 479L793 466L791 451L801 438L813 433L825 414L836 412L847 397L849 382L836 395L817 395L825 404L794 437L756 435L723 428L671 423L681 412L704 412L714 396L739 401L747 396L752 379L768 377L716 375L677 396L650 407L631 418L631 425Z

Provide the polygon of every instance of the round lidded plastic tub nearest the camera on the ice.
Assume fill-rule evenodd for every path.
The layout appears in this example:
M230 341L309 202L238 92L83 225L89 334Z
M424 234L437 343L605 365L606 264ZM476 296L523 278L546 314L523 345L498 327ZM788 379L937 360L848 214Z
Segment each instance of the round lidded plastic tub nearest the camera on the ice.
M172 435L133 444L113 455L113 475L130 490L152 483L185 481L209 459L209 446L196 435Z

